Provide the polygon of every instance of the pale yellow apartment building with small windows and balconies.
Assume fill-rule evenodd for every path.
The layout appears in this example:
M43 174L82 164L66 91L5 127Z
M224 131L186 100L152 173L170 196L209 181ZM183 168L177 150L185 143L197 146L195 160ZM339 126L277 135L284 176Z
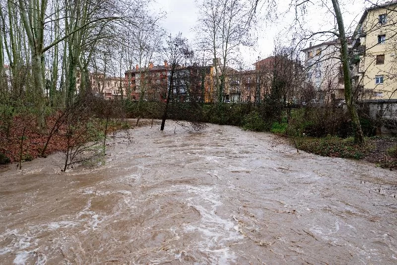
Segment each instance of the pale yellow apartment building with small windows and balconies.
M364 98L397 98L397 1L367 8L357 26L353 77Z

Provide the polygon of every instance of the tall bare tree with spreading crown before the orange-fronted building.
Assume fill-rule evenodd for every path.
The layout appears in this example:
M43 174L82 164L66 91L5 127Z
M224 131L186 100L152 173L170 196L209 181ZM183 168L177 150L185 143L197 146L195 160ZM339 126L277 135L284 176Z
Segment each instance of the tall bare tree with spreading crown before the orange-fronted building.
M240 45L251 45L250 27L259 0L204 0L200 5L201 43L211 54L217 101L223 102L227 65Z

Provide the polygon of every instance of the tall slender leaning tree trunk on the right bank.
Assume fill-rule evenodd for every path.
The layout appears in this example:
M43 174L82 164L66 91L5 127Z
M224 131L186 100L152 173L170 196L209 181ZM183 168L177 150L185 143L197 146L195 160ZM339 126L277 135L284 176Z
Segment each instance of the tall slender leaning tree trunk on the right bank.
M338 0L332 0L333 9L335 10L336 21L339 28L339 40L341 45L341 59L343 67L343 78L344 78L344 97L346 100L347 109L350 113L350 118L353 123L354 129L354 141L360 145L364 143L363 131L361 129L360 119L358 118L357 109L353 102L352 97L352 85L351 85L351 75L349 69L349 55L347 50L347 39L344 31L344 24L342 13L339 8Z

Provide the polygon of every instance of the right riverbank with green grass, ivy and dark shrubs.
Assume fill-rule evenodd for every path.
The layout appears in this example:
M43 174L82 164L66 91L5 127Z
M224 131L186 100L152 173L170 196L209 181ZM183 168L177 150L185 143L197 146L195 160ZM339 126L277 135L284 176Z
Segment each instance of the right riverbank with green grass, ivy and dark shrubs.
M284 113L280 121L266 122L260 113L254 111L245 116L242 127L288 137L293 139L298 149L308 153L364 159L383 168L397 168L397 145L390 146L397 139L374 136L376 125L370 119L362 117L361 124L366 135L362 146L354 142L349 118L343 113L297 109L291 112L289 120Z

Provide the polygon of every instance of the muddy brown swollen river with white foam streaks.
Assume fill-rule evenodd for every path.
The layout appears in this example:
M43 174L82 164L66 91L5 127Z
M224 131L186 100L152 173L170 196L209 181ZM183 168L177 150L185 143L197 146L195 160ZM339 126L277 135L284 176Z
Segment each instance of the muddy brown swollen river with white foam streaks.
M1 170L0 263L397 263L396 172L237 127L158 129L97 166Z

